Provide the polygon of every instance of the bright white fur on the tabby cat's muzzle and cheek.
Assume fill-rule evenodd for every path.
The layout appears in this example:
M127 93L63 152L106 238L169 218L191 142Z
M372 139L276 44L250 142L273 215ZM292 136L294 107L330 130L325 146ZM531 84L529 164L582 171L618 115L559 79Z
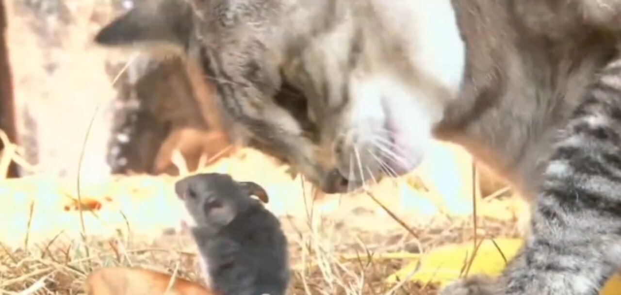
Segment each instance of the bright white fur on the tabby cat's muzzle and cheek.
M407 61L412 68L436 81L450 95L448 99L455 99L466 56L450 0L373 1L386 28L410 42L406 44ZM397 162L404 164L397 166L414 170L431 142L433 125L442 120L447 98L430 97L435 91L428 91L425 81L397 73L390 68L374 68L350 76L350 93L356 99L352 101L349 123L358 127L361 135L390 126L394 132L392 153L399 158Z

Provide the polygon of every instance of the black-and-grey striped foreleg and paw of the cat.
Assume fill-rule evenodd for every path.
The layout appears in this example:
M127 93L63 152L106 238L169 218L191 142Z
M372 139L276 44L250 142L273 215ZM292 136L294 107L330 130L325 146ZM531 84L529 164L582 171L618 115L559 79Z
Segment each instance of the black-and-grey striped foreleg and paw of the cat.
M597 294L619 270L621 55L560 130L535 203L532 234L497 283L473 276L440 295Z

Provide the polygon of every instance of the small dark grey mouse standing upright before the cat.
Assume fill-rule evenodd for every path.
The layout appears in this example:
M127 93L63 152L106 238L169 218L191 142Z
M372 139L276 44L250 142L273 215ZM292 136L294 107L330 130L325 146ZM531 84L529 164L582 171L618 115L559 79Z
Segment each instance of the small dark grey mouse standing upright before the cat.
M257 199L268 202L260 185L229 175L203 173L175 184L194 219L207 285L221 295L280 295L289 282L287 240L280 222Z

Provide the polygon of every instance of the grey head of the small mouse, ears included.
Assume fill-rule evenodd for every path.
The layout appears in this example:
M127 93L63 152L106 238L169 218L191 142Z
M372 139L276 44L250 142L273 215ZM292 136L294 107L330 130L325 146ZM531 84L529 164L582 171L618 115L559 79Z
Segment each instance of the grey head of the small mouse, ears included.
M188 176L175 183L175 193L194 219L194 227L220 229L252 206L260 206L256 199L269 201L260 185L237 182L229 175L202 173Z

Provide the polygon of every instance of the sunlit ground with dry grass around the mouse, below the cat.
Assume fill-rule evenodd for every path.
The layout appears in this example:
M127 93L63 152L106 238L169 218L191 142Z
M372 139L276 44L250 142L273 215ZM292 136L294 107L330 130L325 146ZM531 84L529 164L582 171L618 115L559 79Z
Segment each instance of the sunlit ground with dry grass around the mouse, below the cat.
M369 186L368 193L348 195L315 194L299 176L292 179L286 166L251 149L238 150L200 172L229 173L268 191L266 206L281 217L289 239L294 270L290 294L380 294L391 289L433 294L432 280L385 282L412 254L473 240L471 179L463 179L469 157L440 144L433 151L418 173L384 179ZM183 169L183 161L176 162ZM75 178L31 176L2 182L0 290L37 286L37 294L79 294L89 271L112 265L176 271L201 282L196 248L179 229L184 216L173 193L178 178L83 179L99 180L80 184L81 212ZM478 238L517 236L519 202L484 199L477 206Z

